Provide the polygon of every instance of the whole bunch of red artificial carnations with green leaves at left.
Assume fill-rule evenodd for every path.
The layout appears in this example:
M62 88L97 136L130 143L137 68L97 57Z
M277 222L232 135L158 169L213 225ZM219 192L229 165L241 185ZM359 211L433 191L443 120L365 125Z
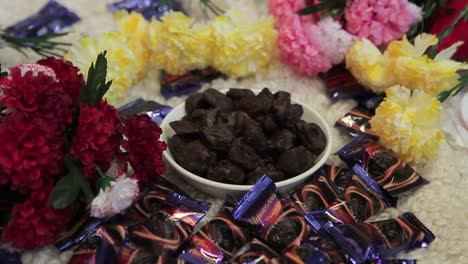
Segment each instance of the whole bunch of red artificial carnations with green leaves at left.
M104 52L86 82L71 62L52 57L0 75L0 187L14 193L0 194L11 204L1 243L54 242L84 208L76 205L105 188L102 178L114 181L104 173L113 162L130 164L140 188L159 179L162 131L147 115L121 116L102 99L111 85L106 68Z

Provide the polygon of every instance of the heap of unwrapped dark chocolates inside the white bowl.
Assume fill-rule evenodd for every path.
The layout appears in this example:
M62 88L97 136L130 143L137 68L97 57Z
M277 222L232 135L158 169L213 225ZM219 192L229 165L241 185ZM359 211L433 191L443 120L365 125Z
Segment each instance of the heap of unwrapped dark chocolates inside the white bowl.
M264 88L215 89L185 103L187 115L170 123L169 149L186 170L209 180L252 185L262 175L279 182L310 169L327 139L288 92Z

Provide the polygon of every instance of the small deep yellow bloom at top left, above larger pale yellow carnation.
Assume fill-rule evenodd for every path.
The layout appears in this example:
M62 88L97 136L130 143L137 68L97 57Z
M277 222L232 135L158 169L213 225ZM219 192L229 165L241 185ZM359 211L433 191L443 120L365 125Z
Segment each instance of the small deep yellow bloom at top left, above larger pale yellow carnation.
M115 20L119 26L119 32L129 41L139 41L145 48L149 47L148 28L149 23L136 12L118 11Z

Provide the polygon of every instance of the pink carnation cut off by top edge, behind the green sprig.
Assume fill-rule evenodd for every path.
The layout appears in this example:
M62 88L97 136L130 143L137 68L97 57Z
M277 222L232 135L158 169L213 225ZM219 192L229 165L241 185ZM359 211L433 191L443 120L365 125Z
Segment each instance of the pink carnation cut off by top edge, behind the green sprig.
M276 25L281 26L289 16L306 7L304 0L270 0L268 11L275 17ZM313 0L312 4L318 4L320 0ZM319 19L319 14L301 16L302 21L314 22Z

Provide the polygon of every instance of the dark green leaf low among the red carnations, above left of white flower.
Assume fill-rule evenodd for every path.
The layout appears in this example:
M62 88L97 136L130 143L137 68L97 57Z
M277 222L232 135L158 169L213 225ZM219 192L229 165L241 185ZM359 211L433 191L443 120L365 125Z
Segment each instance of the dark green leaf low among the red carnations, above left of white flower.
M52 203L54 208L66 208L78 199L79 194L79 177L70 172L57 182L54 190L49 195L49 202Z

